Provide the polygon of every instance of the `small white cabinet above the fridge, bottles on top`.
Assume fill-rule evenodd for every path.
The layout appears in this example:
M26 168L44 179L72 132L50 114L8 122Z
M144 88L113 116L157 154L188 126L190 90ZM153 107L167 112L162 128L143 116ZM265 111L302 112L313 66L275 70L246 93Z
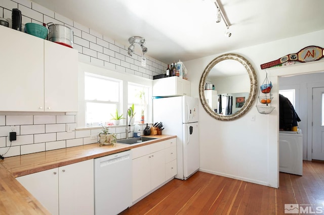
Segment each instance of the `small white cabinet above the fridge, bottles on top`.
M191 83L177 76L153 80L153 96L191 95Z

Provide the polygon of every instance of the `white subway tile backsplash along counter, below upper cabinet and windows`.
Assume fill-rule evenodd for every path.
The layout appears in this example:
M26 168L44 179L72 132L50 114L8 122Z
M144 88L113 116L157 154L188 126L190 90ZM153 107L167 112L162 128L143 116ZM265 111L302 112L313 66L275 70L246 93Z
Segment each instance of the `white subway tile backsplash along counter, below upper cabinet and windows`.
M75 130L76 113L62 114L0 115L0 122L3 122L0 124L0 155L6 153L8 149L4 157L98 142L101 128ZM140 125L142 135L145 126ZM17 133L17 140L10 142L9 132L12 128ZM133 125L132 130L134 130ZM112 126L109 132L117 134L117 139L126 137L125 126ZM129 136L133 136L133 132L130 132Z

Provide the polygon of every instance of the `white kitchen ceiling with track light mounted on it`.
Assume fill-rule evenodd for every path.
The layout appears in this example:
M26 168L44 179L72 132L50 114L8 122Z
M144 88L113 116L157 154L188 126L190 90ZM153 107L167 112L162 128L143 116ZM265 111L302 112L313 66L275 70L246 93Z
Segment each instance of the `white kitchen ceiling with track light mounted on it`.
M324 29L322 0L217 1L231 37L216 23L212 0L33 0L126 47L129 37L142 36L146 55L167 64Z

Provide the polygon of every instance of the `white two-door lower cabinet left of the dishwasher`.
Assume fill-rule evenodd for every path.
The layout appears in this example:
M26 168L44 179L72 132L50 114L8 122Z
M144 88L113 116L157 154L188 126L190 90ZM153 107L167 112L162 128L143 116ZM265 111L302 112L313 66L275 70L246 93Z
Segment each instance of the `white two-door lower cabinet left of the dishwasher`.
M16 179L52 214L94 214L93 159Z

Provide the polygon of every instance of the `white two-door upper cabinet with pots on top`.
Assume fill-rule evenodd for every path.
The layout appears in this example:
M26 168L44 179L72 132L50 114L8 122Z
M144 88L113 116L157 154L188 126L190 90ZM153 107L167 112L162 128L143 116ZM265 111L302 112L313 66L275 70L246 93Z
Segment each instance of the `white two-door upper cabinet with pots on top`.
M76 112L77 50L0 26L0 111Z

